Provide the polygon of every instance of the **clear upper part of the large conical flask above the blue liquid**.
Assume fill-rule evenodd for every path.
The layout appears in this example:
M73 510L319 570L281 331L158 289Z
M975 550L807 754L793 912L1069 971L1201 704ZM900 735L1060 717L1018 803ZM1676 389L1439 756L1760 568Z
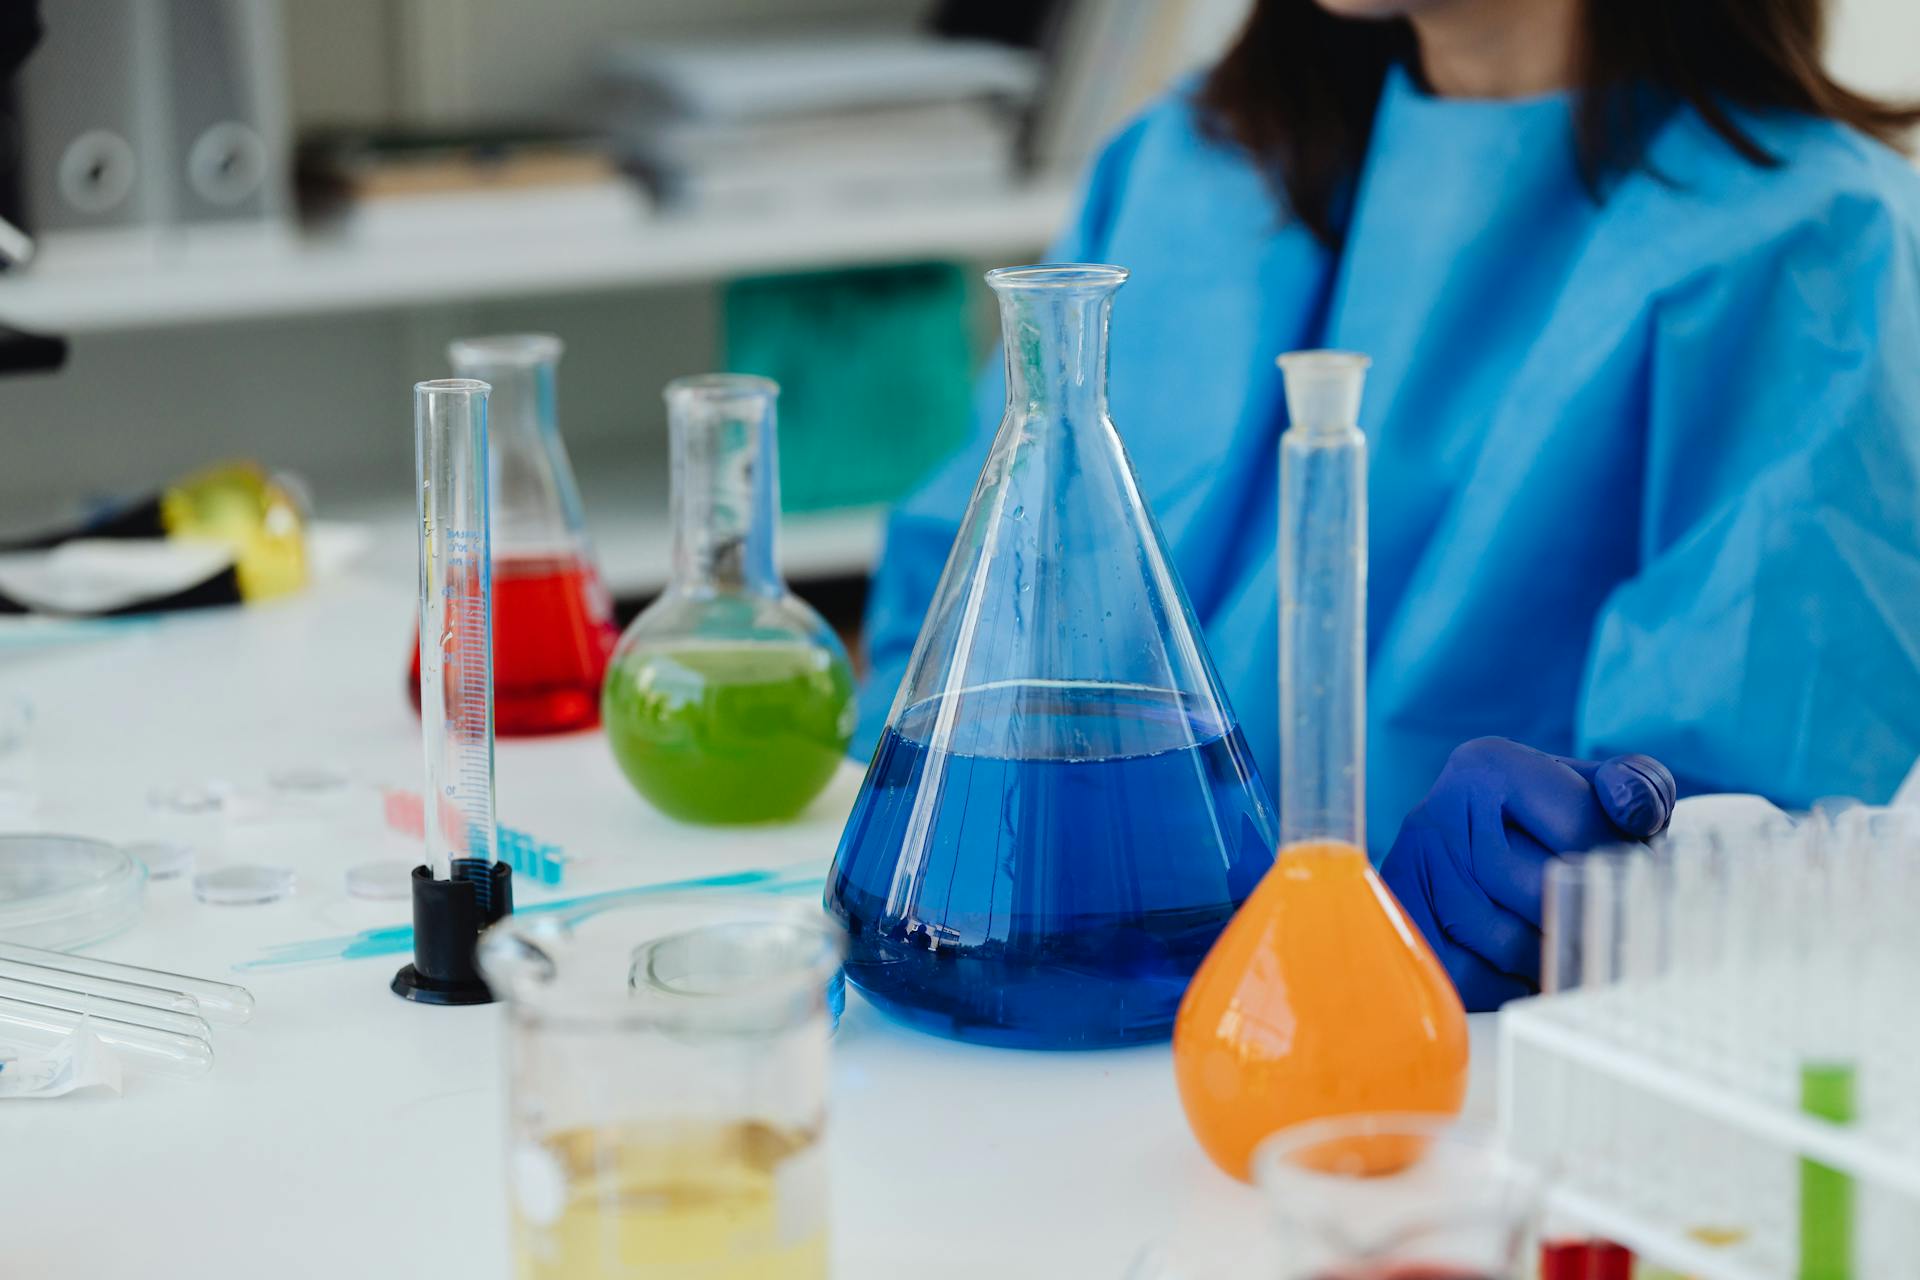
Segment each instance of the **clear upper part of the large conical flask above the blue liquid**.
M1029 290L1025 276L1066 280ZM1006 311L1014 374L1006 416L927 606L893 720L927 702L941 712L925 722L935 745L962 743L977 758L1108 756L1229 737L1233 712L1102 399L1108 299L1125 273L1025 267L987 278ZM1077 413L1077 405L1096 411ZM972 693L1012 685L1033 695L1016 700L1018 714L948 723L947 712L962 704L991 704ZM948 697L968 691L964 702ZM1077 704L1075 691L1116 723L1133 725L1125 747L1096 747L1104 729L1060 710Z

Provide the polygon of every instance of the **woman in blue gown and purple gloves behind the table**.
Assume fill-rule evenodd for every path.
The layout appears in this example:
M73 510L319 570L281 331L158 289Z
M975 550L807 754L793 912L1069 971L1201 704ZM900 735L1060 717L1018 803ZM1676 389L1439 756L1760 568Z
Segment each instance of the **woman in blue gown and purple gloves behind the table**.
M1824 8L1263 0L1054 246L1133 271L1114 420L1269 779L1273 357L1373 357L1369 831L1469 1004L1526 990L1544 856L1672 800L1538 752L1791 806L1920 752L1920 115L1818 69ZM854 750L1000 399L887 526Z

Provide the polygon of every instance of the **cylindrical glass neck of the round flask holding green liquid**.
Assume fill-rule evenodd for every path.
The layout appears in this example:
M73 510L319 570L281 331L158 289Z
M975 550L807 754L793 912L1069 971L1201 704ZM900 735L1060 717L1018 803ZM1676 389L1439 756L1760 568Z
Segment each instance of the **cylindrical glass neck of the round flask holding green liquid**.
M766 378L682 378L666 388L674 591L781 595L774 555L780 457Z

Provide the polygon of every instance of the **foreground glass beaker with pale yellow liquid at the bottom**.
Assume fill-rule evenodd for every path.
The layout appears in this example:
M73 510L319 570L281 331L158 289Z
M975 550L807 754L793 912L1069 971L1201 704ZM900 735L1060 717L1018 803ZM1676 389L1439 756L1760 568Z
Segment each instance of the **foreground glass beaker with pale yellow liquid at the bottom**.
M814 904L659 898L511 917L518 1280L824 1280L828 988Z

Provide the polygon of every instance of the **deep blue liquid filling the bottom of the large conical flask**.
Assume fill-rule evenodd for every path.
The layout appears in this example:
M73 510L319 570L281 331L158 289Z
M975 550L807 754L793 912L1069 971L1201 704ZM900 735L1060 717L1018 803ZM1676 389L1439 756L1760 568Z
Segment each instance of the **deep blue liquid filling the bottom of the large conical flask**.
M943 708L950 737L931 750ZM887 729L826 906L851 936L847 979L922 1031L1018 1048L1164 1040L1273 842L1231 722L1137 685L989 685Z

